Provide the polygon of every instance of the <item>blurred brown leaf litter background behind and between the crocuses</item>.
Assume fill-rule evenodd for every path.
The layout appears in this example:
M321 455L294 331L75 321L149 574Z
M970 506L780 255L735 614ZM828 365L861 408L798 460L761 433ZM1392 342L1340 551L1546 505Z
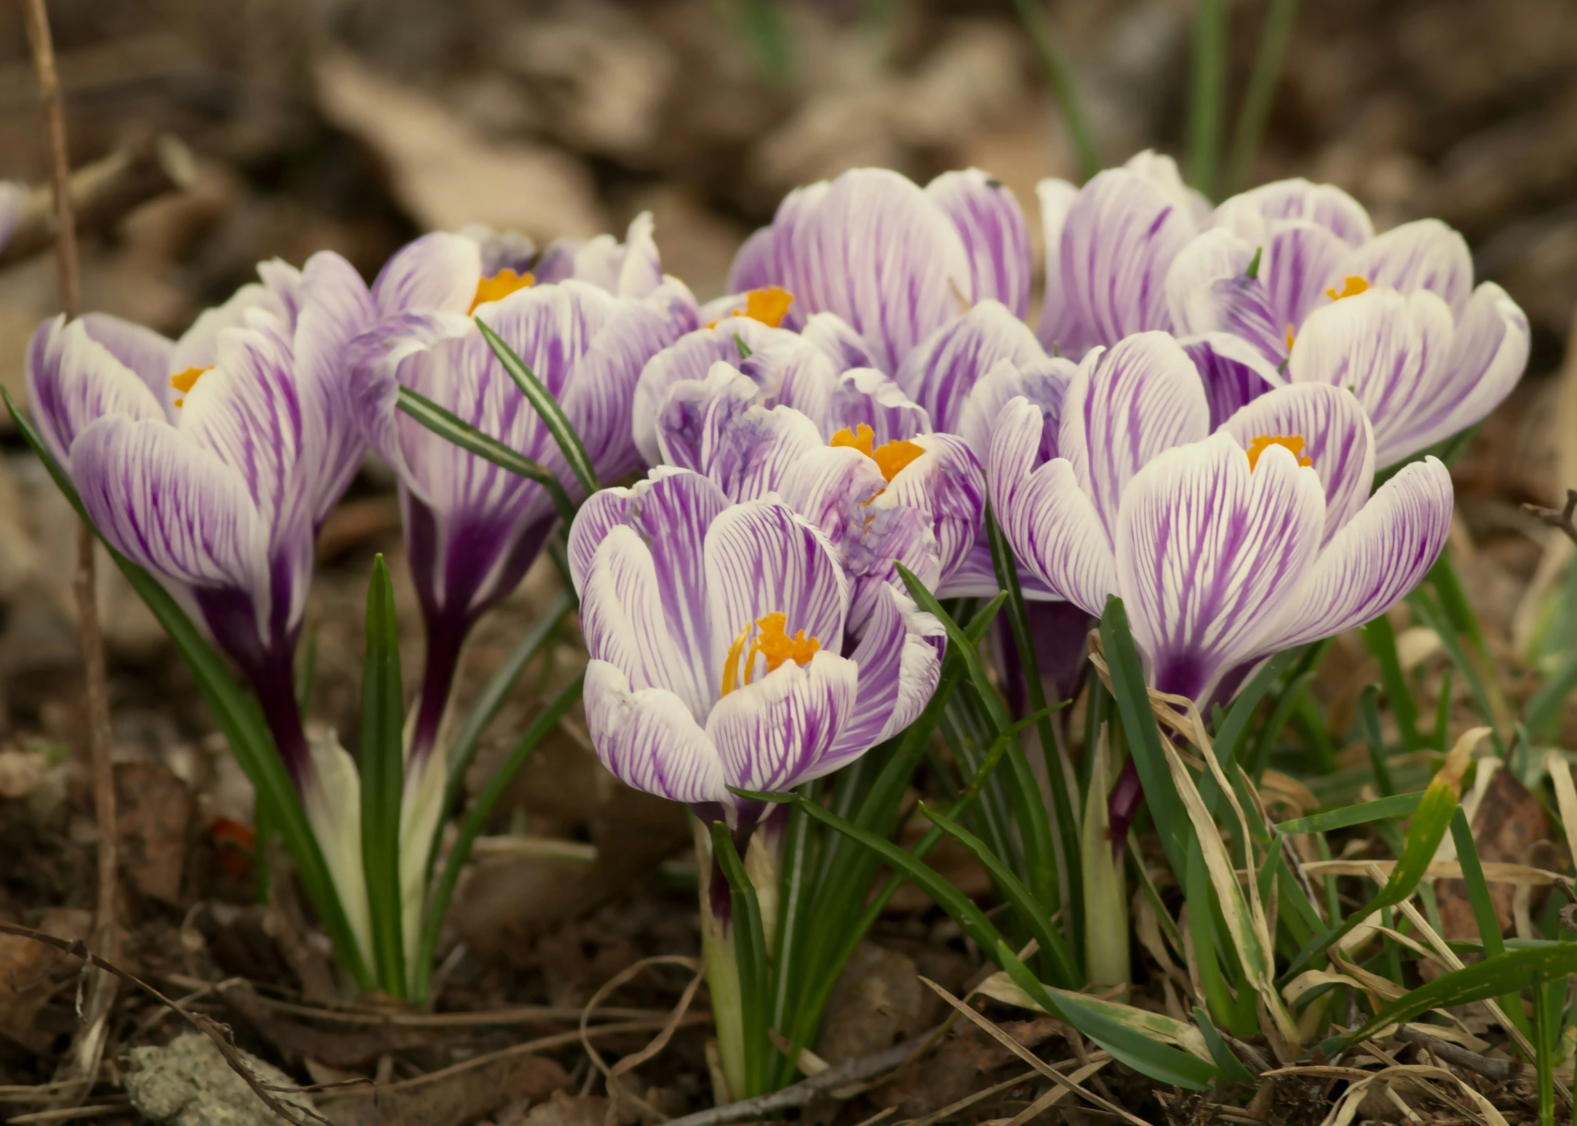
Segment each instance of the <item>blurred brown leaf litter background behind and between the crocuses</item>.
M1035 44L1008 0L50 0L49 8L73 164L109 161L99 167L115 183L129 175L115 170L121 166L151 177L151 186L88 208L85 308L166 333L252 278L260 259L300 265L328 248L371 279L423 230L479 222L546 244L623 232L642 210L656 216L664 267L705 300L724 292L736 246L785 191L871 164L919 181L951 167L990 170L1017 194L1039 255L1035 183L1077 173ZM1577 308L1577 5L1293 8L1265 142L1241 186L1290 175L1333 181L1372 210L1378 229L1440 216L1467 235L1478 278L1503 284L1533 323L1528 377L1456 467L1459 568L1493 651L1515 677L1539 629L1541 598L1569 558L1564 541L1549 547L1552 533L1522 503L1556 503L1577 484L1577 371L1560 374ZM1050 0L1035 9L1069 62L1105 164L1146 147L1181 155L1189 0ZM1228 9L1232 123L1271 0ZM44 177L21 9L0 5L0 178L36 186ZM144 196L155 197L139 202ZM58 309L55 267L47 254L8 251L0 260L0 382L21 396L27 339ZM44 818L58 826L50 836L36 817L13 818L0 803L0 845L14 842L16 855L30 858L0 871L0 915L13 915L84 902L91 856L80 845L95 830L76 766L84 741L68 587L74 522L8 418L0 446L0 798L66 811ZM374 550L388 552L399 574L393 486L369 468L325 528L311 610L315 710L342 732L355 729ZM129 811L123 855L137 894L191 902L211 891L208 880L246 878L244 855L227 848L244 853L249 793L151 617L110 569L101 568L101 582ZM419 636L408 587L402 591L412 673ZM489 618L462 707L552 593L552 576L535 572ZM1372 672L1356 640L1344 647L1345 662L1328 662L1320 686L1333 707L1344 694L1356 699ZM577 659L566 643L536 683L566 680ZM497 725L498 748L531 707L530 694L511 705ZM1333 713L1333 730L1345 725ZM677 807L617 787L572 725L561 741L522 776L509 826L585 842L587 852L544 859L479 848L497 878L473 880L454 916L473 949L514 956L524 949L514 938L546 934L683 850ZM490 765L484 755L478 770ZM63 795L74 796L60 806ZM197 839L207 859L194 875L186 858ZM636 919L626 929L672 932L648 935L637 943L645 949L691 941L672 912L642 916L632 907L621 918ZM598 924L538 943L533 965L549 967L550 979L590 982L634 957L634 930L604 927L593 941L588 926ZM145 932L150 957L159 934ZM262 975L244 959L230 965Z

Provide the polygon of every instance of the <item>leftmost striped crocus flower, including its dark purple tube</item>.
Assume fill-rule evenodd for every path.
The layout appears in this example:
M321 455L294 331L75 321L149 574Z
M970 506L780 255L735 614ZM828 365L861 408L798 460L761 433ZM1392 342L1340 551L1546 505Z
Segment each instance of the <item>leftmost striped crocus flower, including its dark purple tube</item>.
M374 309L337 254L259 273L178 341L104 314L44 322L27 390L88 517L197 610L301 789L292 662L314 539L364 451L345 350Z

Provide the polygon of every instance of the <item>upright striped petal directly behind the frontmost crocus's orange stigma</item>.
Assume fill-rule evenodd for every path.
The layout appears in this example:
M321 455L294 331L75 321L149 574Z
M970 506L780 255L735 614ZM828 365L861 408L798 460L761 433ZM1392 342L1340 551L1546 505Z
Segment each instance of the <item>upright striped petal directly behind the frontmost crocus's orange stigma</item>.
M713 520L705 574L713 669L722 669L733 639L768 613L784 613L790 636L803 629L841 651L848 579L826 536L785 505L755 500Z

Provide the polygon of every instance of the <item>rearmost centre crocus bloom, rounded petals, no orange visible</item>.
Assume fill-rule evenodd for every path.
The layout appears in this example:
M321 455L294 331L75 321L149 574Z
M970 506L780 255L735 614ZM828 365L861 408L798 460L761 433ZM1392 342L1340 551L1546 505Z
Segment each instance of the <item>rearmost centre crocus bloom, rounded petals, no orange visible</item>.
M960 312L995 300L1030 306L1030 237L1012 192L979 169L945 172L924 189L888 169L852 169L798 188L735 259L735 293L777 285L787 325L823 323L853 363L896 375L908 352Z

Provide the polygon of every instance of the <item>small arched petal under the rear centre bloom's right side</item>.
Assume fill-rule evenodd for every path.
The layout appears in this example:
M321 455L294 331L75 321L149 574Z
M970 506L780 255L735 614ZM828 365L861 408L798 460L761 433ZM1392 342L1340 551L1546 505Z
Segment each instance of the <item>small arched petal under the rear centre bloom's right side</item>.
M1044 363L1046 352L1005 304L981 301L904 356L897 383L926 408L932 426L954 431L964 401L998 360L1025 367Z

